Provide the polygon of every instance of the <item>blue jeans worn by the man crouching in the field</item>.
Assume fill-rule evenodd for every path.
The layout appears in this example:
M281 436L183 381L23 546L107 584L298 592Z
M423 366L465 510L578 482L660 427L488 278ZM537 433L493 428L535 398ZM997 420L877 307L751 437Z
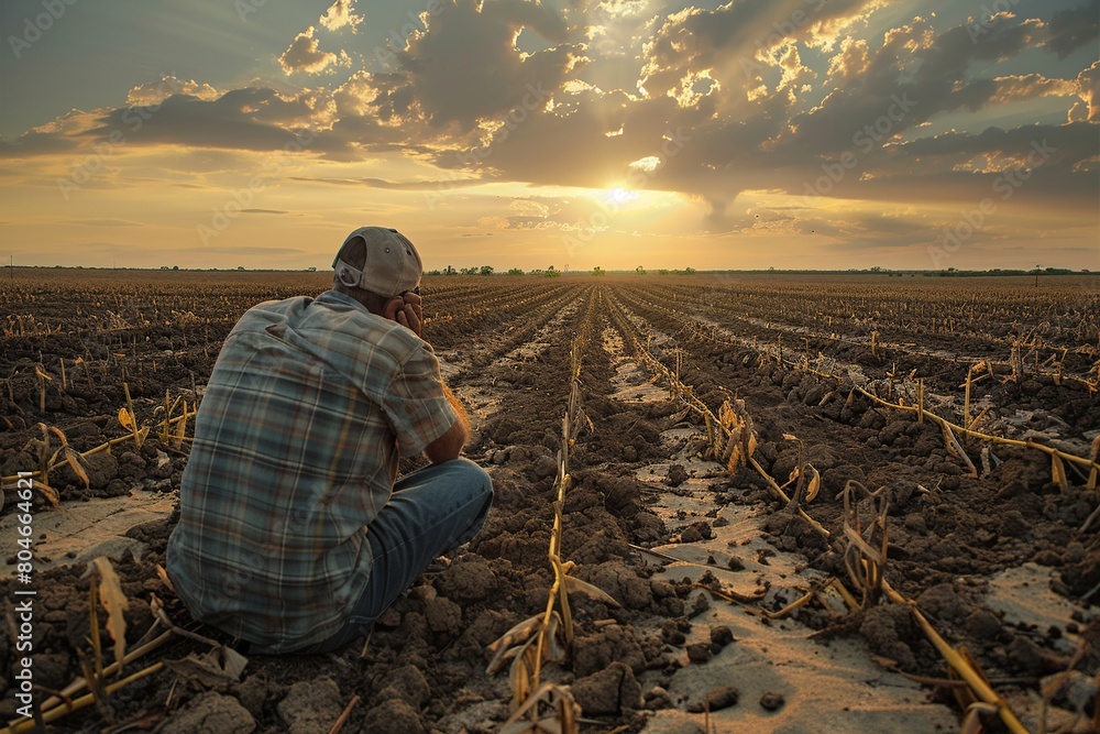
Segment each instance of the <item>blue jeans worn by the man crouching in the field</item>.
M334 635L295 654L329 653L366 634L432 560L477 534L492 502L488 474L469 459L432 464L397 480L389 502L367 528L374 565L351 616Z

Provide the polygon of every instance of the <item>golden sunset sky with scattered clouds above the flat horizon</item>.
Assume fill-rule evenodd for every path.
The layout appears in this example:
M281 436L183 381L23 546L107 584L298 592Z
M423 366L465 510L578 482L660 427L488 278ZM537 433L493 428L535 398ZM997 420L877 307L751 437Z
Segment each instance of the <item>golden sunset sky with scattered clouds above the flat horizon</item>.
M1100 270L1100 0L3 0L4 264Z

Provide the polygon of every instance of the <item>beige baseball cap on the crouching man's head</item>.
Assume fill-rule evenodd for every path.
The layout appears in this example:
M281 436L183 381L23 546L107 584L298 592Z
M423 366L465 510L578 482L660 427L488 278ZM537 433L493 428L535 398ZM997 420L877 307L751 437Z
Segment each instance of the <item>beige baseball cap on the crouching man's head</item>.
M366 258L362 270L348 262L349 244L355 238L366 241ZM411 291L420 283L424 263L420 253L407 237L387 227L360 227L340 247L332 269L349 287L360 287L392 298Z

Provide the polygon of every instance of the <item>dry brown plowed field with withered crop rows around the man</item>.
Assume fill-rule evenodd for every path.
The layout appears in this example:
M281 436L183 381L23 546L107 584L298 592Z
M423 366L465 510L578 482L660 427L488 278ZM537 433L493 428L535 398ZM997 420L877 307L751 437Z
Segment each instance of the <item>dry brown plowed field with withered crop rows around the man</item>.
M1094 731L1100 277L426 277L424 337L471 413L490 518L365 646L238 670L157 571L191 412L245 309L327 287L6 274L0 721L21 720L30 669L42 731L329 732L342 712L344 732L502 731L516 681L486 667L547 609L564 442L560 558L617 602L569 594L574 636L541 668L580 731ZM158 645L59 695L114 660L89 602L100 555L128 649Z

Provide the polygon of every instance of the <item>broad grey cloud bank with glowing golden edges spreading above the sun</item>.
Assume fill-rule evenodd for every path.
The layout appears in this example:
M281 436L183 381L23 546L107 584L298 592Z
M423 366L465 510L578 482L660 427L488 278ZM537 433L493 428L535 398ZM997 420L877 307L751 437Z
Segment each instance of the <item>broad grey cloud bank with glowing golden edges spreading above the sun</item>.
M818 205L980 201L998 177L1026 165L1032 143L1046 140L1056 154L1013 189L1013 207L1094 212L1100 63L1081 72L1078 56L1055 61L1087 44L1071 32L1072 17L999 13L980 25L949 26L930 15L886 26L884 17L897 13L882 12L877 0L734 0L674 12L654 0L568 4L559 12L528 0L440 0L430 6L438 11L384 50L385 70L355 70L324 85L272 85L294 91L258 83L220 91L166 76L133 87L122 107L74 110L0 141L0 157L75 158L121 131L128 153L172 145L174 153L156 153L158 163L180 149L228 161L196 174L209 185L254 166L255 153L285 150L307 135L302 155L323 158L317 167L327 166L327 175L308 175L317 168L287 175L301 186L414 198L487 183L668 191L710 232L814 230L869 243L876 235L910 241L926 215L903 217L902 227L881 216L826 215ZM354 30L353 18L351 1L333 2L319 26ZM309 28L282 55L287 75L343 68L346 52L322 51L317 35ZM361 35L346 40L352 54L371 53ZM1040 53L1044 47L1053 53ZM1027 69L1035 57L1042 65L1034 72L1004 70ZM1066 119L1071 105L1068 124L1021 127L1009 117L1042 109L1049 123ZM1007 106L1013 107L999 109ZM142 108L147 118L134 117ZM234 155L240 160L230 161ZM398 165L364 166L391 158ZM185 172L187 163L173 160L166 169ZM147 161L142 165L142 175L155 175ZM759 219L732 206L761 191L811 200ZM477 216L494 228L566 233L600 211L587 197L525 198L507 209L495 196L454 196L483 207ZM631 211L610 228L626 230L644 216Z

